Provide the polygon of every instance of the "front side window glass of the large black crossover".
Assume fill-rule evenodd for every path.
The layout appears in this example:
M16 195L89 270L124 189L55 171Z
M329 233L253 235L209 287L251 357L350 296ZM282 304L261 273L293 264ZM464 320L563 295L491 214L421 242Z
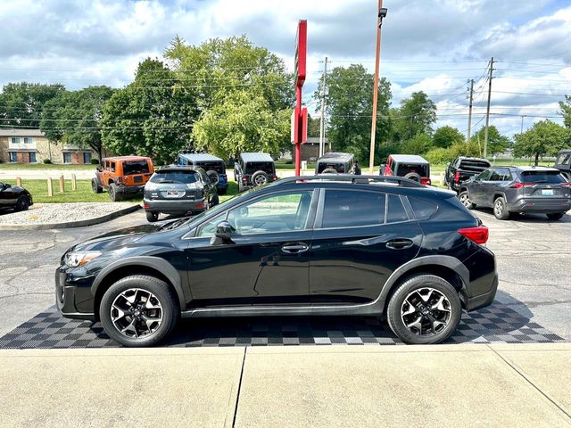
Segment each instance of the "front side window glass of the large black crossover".
M238 235L292 232L308 227L312 191L266 195L228 212Z

